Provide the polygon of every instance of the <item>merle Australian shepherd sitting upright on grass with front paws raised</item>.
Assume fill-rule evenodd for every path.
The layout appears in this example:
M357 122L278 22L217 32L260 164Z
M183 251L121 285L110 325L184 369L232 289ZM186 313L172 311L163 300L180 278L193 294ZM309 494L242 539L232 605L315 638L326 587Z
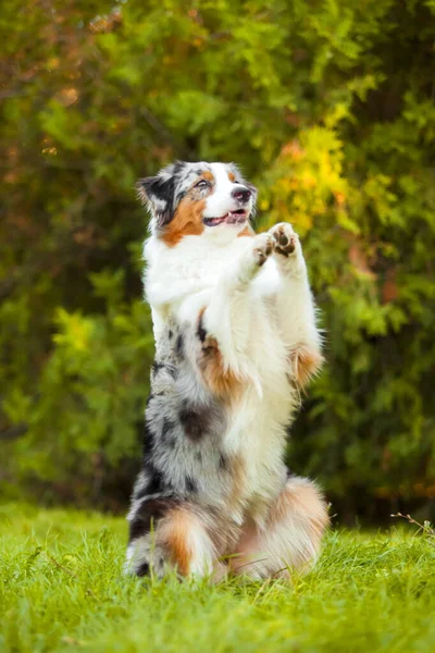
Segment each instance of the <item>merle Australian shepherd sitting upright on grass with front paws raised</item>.
M128 514L138 576L214 580L303 568L328 518L284 464L321 342L298 236L256 235L256 189L233 164L176 162L140 180L151 212L146 296L156 360Z

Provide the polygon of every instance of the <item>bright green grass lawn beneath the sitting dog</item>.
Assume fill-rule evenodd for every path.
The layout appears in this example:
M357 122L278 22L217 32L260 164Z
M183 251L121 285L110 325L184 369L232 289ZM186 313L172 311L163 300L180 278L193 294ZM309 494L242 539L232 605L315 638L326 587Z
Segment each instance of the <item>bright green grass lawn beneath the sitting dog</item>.
M291 583L122 576L123 519L0 507L0 651L435 649L435 544L403 523L331 532Z

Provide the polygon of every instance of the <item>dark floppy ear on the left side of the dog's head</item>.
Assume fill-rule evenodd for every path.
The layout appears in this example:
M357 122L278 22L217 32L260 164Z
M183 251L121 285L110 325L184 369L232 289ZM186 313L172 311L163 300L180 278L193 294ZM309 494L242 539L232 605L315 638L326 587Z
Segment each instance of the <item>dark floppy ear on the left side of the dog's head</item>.
M159 173L157 176L144 177L136 183L139 199L145 204L157 226L162 229L174 217L174 177Z

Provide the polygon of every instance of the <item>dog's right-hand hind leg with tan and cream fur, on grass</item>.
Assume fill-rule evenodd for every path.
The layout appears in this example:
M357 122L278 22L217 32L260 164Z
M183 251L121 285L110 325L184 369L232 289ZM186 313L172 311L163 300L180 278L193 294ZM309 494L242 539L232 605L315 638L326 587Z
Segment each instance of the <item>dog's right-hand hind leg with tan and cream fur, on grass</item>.
M319 554L328 523L326 504L315 484L293 477L271 506L265 523L247 522L231 559L234 574L253 578L287 577L306 570Z

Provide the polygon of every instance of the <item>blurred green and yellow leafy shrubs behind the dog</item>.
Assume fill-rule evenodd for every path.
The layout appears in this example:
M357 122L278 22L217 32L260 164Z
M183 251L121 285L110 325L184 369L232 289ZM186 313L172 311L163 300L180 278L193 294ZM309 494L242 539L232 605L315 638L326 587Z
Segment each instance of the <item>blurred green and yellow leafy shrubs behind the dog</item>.
M435 496L434 0L4 0L0 489L121 509L152 360L136 177L234 160L303 239L289 445L344 520Z

